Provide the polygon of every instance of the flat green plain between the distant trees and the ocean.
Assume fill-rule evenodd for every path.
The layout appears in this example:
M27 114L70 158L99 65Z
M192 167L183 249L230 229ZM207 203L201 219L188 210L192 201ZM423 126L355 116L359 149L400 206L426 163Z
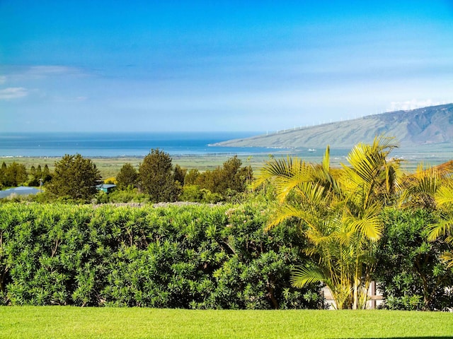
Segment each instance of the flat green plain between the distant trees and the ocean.
M339 166L340 162L346 163L346 155L349 150L331 150L331 165L333 167ZM302 157L307 162L321 162L324 149L317 149L312 152L308 150L294 150L292 156ZM253 169L258 172L260 167L269 160L270 155L275 157L286 157L286 153L278 153L275 150L269 150L269 154L258 155L240 155L243 165L251 165ZM232 157L229 154L208 154L208 155L172 155L173 165L180 165L183 168L196 168L200 171L207 169L214 169ZM413 172L420 162L425 165L439 165L442 162L447 162L453 159L453 145L425 145L417 148L397 148L391 153L391 156L403 160L403 169L407 172ZM103 178L115 177L117 172L120 171L122 165L127 162L138 168L139 163L142 162L142 157L91 157L93 162L100 169ZM35 167L41 165L49 166L53 170L56 161L60 157L0 157L0 163L9 163L16 161L24 164L27 169L32 165Z

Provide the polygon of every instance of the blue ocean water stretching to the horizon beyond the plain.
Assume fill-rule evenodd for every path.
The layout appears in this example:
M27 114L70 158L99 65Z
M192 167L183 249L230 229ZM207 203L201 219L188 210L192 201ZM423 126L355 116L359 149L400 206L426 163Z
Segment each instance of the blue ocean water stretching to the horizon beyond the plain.
M149 132L149 133L1 133L0 157L142 157L151 148L170 155L259 154L269 148L214 147L209 144L246 138L260 132ZM280 149L281 151L281 149Z

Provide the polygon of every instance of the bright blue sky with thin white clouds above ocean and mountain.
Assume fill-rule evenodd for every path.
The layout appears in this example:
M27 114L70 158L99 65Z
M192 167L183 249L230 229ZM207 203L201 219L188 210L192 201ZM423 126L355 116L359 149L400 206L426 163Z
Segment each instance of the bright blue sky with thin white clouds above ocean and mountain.
M275 131L453 102L453 1L0 0L0 132Z

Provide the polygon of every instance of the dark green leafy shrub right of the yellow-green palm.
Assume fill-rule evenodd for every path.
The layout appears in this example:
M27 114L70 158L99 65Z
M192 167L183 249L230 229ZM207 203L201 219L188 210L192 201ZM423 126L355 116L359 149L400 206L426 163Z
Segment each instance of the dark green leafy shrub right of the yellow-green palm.
M441 261L444 242L428 242L426 225L435 215L388 209L377 251L375 278L388 309L445 310L453 307L453 270Z

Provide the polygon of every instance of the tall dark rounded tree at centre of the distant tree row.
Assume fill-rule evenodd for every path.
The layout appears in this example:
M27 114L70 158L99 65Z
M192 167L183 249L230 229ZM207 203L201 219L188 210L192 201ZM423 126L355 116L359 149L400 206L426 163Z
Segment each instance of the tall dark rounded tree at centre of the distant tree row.
M173 175L173 165L168 153L151 149L139 165L139 187L149 194L151 201L176 201L180 189Z

